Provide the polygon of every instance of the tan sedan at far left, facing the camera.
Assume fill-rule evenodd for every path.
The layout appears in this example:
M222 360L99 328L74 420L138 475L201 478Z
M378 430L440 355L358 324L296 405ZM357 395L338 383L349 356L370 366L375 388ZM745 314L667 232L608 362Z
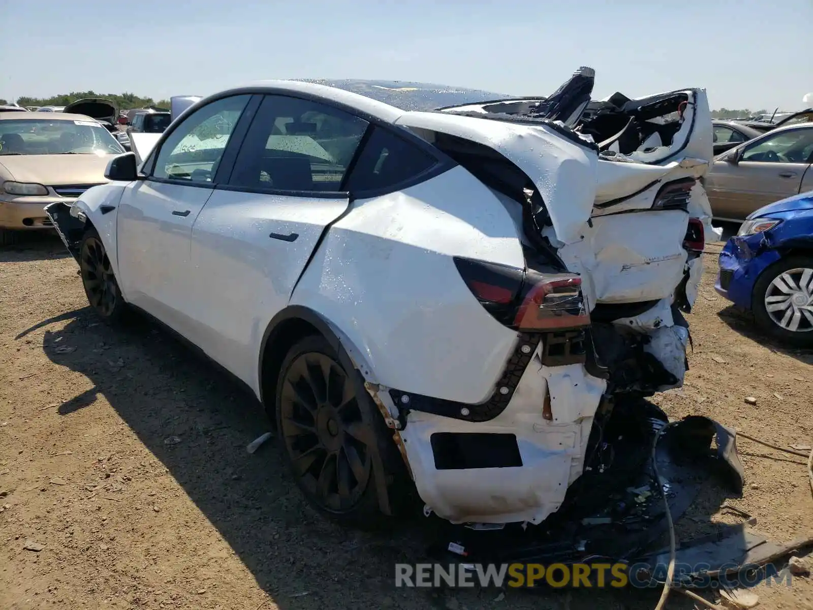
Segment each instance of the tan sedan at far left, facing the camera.
M51 229L43 208L107 182L124 148L97 121L53 112L0 113L0 245L19 231Z

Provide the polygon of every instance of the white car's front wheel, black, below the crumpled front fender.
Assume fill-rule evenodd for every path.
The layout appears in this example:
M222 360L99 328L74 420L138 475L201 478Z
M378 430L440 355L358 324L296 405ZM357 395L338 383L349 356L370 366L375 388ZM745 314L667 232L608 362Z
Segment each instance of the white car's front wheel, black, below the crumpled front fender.
M97 315L110 324L123 321L127 303L121 296L119 283L96 229L85 231L79 243L79 274L88 303Z

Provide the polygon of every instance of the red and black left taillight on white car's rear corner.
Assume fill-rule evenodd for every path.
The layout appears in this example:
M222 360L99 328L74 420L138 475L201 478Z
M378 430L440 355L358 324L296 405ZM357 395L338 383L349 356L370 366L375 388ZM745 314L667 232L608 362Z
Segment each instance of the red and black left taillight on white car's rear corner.
M574 273L541 273L454 257L480 304L502 324L524 332L576 329L590 324Z

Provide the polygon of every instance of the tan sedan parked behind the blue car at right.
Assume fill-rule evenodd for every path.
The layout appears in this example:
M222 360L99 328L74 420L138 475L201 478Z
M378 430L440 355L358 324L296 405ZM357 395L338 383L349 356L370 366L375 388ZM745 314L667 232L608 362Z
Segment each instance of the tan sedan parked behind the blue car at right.
M718 220L742 221L752 211L813 190L813 124L791 124L755 137L715 159L706 193Z

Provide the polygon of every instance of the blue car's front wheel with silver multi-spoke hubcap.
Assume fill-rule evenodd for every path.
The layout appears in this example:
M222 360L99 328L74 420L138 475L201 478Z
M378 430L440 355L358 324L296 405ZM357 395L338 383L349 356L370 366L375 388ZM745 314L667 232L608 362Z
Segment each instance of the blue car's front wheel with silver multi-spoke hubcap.
M813 307L813 256L789 256L765 269L754 284L751 307L772 337L813 346L813 311L802 308Z

